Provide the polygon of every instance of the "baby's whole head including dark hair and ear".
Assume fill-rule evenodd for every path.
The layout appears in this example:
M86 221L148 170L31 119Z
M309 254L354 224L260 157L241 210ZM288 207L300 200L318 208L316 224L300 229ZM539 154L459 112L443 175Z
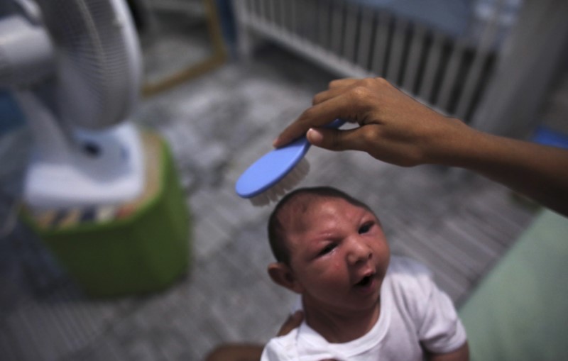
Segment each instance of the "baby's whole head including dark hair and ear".
M330 187L297 189L275 207L268 238L277 262L268 274L302 294L305 306L374 306L390 252L375 213Z

